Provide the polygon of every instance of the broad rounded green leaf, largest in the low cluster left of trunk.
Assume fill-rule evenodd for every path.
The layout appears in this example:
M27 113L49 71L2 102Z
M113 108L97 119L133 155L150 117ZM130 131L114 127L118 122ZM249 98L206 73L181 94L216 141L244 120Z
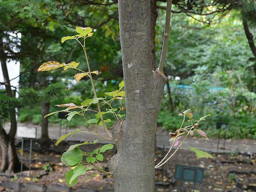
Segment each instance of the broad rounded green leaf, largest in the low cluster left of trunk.
M60 160L67 166L79 164L82 162L82 151L80 148L75 147L73 150L63 153Z

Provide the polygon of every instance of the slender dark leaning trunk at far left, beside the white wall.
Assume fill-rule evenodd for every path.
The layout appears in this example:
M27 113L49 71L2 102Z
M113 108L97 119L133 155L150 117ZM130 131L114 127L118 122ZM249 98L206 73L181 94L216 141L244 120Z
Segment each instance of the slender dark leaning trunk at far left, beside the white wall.
M14 94L12 94L10 79L9 79L8 70L6 66L6 54L5 54L2 36L0 37L0 62L1 62L1 67L4 75L6 94L8 97L14 97ZM11 121L11 129L9 132L9 136L11 139L14 139L16 130L17 130L16 113L14 108L10 109L10 121Z

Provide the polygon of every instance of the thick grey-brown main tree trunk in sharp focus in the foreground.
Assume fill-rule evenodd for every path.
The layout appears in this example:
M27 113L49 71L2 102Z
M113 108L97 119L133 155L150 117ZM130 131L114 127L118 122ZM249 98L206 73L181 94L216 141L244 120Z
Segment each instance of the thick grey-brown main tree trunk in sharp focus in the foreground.
M115 192L153 192L156 121L167 77L152 71L151 2L119 0L118 10L126 120L111 129L117 154L108 167Z

